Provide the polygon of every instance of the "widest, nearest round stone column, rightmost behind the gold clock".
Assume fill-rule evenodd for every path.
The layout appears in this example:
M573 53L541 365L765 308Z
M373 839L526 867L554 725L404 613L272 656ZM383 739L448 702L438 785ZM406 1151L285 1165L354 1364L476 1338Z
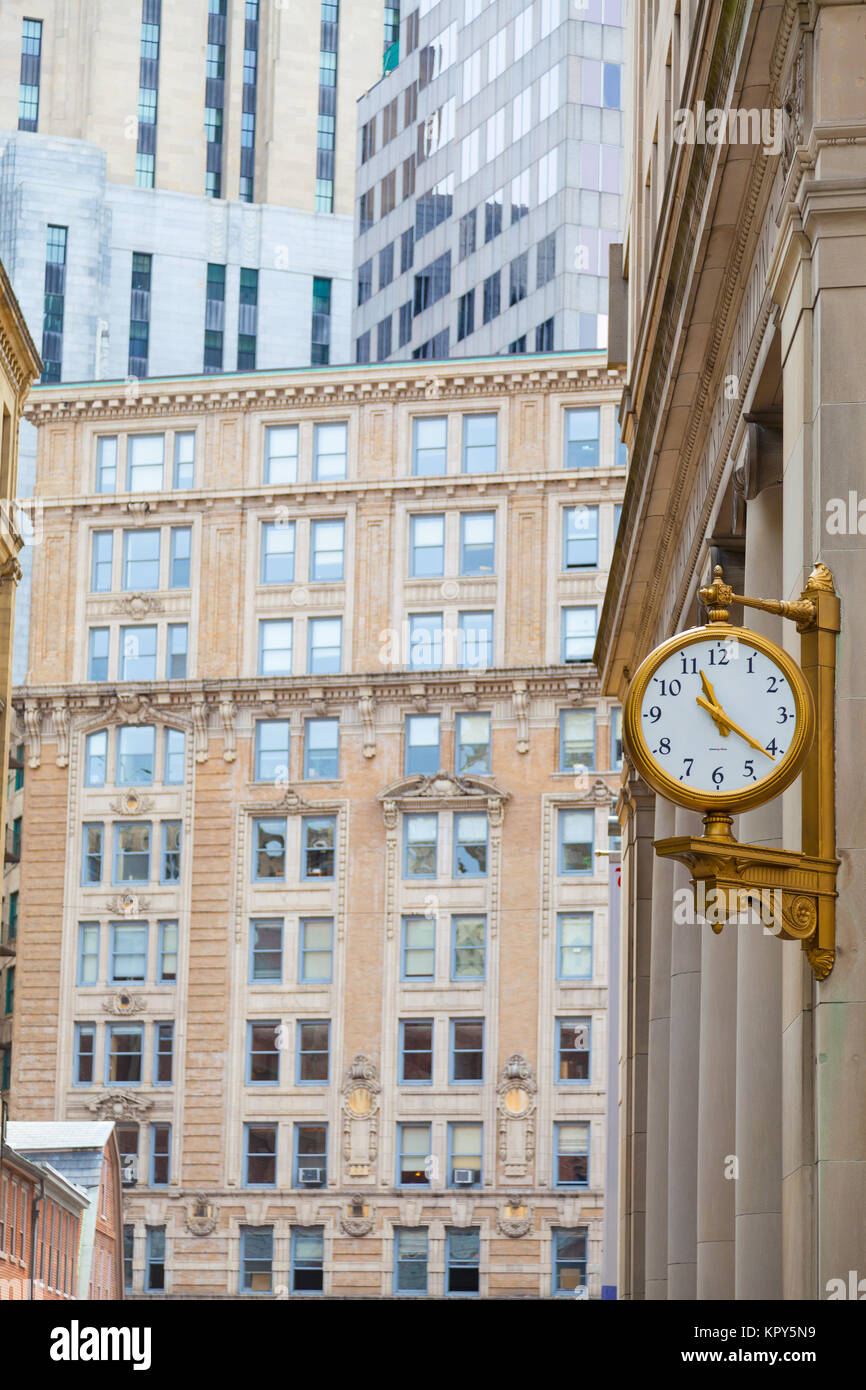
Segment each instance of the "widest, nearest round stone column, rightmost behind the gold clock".
M781 486L746 505L745 591L778 598ZM755 609L745 621L781 642L783 619ZM781 802L740 817L738 838L781 847ZM760 924L737 927L735 1297L781 1298L781 951Z

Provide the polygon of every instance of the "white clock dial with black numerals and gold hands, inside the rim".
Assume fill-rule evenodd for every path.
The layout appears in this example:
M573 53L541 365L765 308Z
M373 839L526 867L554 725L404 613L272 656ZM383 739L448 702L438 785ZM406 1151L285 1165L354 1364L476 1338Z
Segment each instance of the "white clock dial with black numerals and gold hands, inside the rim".
M798 708L783 669L748 639L714 637L673 649L639 705L653 762L684 791L748 792L798 741Z

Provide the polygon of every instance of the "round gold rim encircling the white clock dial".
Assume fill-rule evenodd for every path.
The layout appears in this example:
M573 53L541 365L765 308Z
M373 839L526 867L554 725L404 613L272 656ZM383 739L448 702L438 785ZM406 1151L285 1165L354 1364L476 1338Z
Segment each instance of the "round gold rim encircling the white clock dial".
M713 792L706 788L698 791L685 787L676 777L671 777L670 773L666 773L657 758L651 752L641 724L644 695L659 666L674 652L695 646L698 642L706 642L710 637L716 637L720 641L728 638L731 642L745 642L753 646L756 652L763 652L765 656L769 656L781 669L794 695L796 716L794 739L783 760L766 777L762 777L753 788L742 787L738 791ZM706 623L705 627L692 627L685 632L677 632L676 637L656 646L638 667L623 709L623 738L628 749L628 756L644 781L677 806L685 806L687 810L699 810L705 815L717 810L751 810L753 806L762 806L765 801L773 801L799 774L812 746L813 737L815 705L809 684L796 662L788 656L784 648L778 646L769 637L765 637L763 632L753 632L748 627L733 627L728 623Z

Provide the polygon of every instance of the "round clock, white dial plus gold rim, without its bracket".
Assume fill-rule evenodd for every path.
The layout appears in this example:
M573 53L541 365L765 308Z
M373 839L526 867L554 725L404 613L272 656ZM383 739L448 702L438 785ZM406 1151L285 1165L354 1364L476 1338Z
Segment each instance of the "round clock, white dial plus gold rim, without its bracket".
M745 810L796 777L812 741L812 698L774 642L709 624L646 657L624 726L638 770L669 801Z

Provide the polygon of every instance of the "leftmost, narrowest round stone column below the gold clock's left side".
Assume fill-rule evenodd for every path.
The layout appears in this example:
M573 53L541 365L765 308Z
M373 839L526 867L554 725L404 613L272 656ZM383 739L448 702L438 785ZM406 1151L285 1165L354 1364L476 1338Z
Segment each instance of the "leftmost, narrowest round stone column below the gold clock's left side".
M674 805L656 798L655 840L674 834ZM667 1298L667 1099L670 1069L670 927L673 859L652 866L649 1034L646 1066L646 1298Z

